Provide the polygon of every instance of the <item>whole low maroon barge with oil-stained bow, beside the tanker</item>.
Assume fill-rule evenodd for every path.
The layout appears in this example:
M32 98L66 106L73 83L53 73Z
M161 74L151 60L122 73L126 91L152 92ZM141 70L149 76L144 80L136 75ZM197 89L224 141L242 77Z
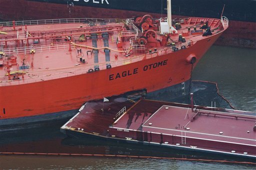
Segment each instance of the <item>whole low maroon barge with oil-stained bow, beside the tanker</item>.
M186 104L140 100L131 106L121 100L105 102L104 112L102 101L86 103L61 131L256 159L255 113L201 106L192 112ZM116 117L124 106L129 109Z

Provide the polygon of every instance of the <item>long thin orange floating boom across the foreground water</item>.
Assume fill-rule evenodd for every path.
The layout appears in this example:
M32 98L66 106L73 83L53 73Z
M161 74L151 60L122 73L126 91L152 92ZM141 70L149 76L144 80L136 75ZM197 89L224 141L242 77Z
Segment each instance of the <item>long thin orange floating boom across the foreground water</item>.
M225 161L225 160L204 160L204 159L189 159L189 158L161 158L161 157L146 157L146 156L130 156L130 155L103 155L103 154L58 154L58 153L8 153L0 152L0 155L29 155L29 156L94 156L94 157L119 157L119 158L142 158L142 159L162 159L162 160L178 160L178 161L200 161L200 162L218 162L218 163L231 163L231 164L250 164L256 165L252 162L239 162L239 161Z

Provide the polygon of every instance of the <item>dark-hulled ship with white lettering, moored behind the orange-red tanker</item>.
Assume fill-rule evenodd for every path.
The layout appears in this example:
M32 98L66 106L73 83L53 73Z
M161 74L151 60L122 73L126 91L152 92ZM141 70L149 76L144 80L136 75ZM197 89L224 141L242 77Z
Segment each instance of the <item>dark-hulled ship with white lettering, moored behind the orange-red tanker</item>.
M219 18L224 5L229 29L215 44L256 48L255 0L172 0L172 14L173 18ZM3 20L166 16L165 0L1 0L0 6Z

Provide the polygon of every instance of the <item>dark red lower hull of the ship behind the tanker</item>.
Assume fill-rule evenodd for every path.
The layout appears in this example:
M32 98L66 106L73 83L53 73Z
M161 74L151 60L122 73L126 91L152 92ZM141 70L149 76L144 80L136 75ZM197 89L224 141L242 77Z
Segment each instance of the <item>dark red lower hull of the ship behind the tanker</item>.
M35 6L40 6L35 7ZM31 20L52 18L130 18L143 16L145 12L126 11L118 9L96 8L89 6L74 6L69 9L66 4L36 2L28 0L5 0L1 3L1 19ZM154 18L165 17L159 13L151 13ZM172 15L173 18L189 17ZM215 44L235 47L256 48L256 22L229 20L229 29L223 33Z

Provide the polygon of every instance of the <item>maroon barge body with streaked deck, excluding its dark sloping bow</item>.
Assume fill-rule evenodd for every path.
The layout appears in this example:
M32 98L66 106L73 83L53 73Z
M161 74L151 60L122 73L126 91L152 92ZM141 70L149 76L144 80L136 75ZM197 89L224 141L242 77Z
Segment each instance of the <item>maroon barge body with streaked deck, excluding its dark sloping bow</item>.
M187 108L188 106L177 107L171 103L163 103L156 112L150 109L145 112L141 110L145 103L152 106L159 105L159 102L140 102L132 106L113 127L109 128L110 136L143 142L168 142L169 145L179 144L188 148L194 146L197 149L217 152L230 153L234 150L236 154L247 152L248 155L256 157L255 132L252 131L255 116L243 115L236 118L239 115L232 114L232 111L224 113L204 108L199 108L194 113ZM199 115L191 122L196 112L199 112ZM243 114L242 111L240 114ZM129 126L127 122L130 122ZM223 134L220 135L219 132Z

